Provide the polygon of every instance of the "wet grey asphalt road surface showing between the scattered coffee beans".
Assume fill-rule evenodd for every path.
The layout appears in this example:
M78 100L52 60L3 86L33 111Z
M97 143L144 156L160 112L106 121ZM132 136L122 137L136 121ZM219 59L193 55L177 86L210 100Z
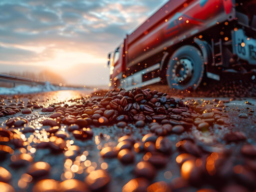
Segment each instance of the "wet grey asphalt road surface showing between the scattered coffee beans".
M71 99L74 99L76 103L81 102L81 98L85 98L85 100L89 99L89 94L91 91L55 91L48 92L42 94L29 94L29 95L18 95L17 97L4 97L2 98L2 103L7 104L9 106L12 103L18 101L24 102L24 106L26 106L27 102L37 102L38 105L42 106L52 106L56 104L69 104ZM104 96L104 95L94 95L95 97ZM86 99L88 98L88 99ZM176 97L177 98L177 97ZM192 100L193 99L193 100ZM230 98L185 98L183 101L196 101L200 100L201 103L204 101L206 103L207 109L211 109L213 105L217 105L218 103L212 102L213 99L219 99L220 101L229 101ZM80 101L79 101L80 100ZM210 103L209 103L210 101ZM246 101L251 103L252 105L246 104ZM209 104L208 104L209 103ZM157 181L164 181L165 183L172 186L172 188L177 188L177 180L181 178L181 167L177 163L177 156L181 153L178 150L177 144L186 139L192 138L198 146L201 146L204 151L208 152L222 152L229 150L229 154L231 154L231 159L233 161L234 166L241 163L242 155L240 153L240 149L244 144L252 144L256 145L256 118L255 118L255 110L254 106L256 101L249 98L242 98L241 101L235 100L230 101L229 103L224 103L222 107L222 114L224 123L223 124L215 124L210 126L208 131L200 131L196 128L196 126L192 126L192 129L186 130L182 134L169 134L166 136L170 141L170 148L172 149L172 153L164 156L163 160L159 160L159 164L163 164L161 168L156 169L155 177L150 180L150 184ZM26 109L26 108L25 108ZM22 109L23 110L23 109ZM42 109L32 109L32 114L22 114L16 113L15 115L4 116L0 118L0 126L5 129L5 122L9 120L9 118L21 117L27 119L29 124L33 125L36 130L42 131L50 126L42 126L42 121L46 118L49 118L51 114L54 112L42 112ZM239 114L245 113L247 114L247 118L239 118ZM77 151L77 159L79 162L79 171L70 171L70 166L67 168L67 158L65 157L64 152L59 152L58 150L52 150L49 147L40 149L37 148L37 144L31 142L30 146L35 148L35 151L31 151L31 147L23 146L17 147L13 142L6 142L6 145L10 146L13 150L13 154L7 154L6 157L2 158L2 162L0 162L0 166L7 169L11 175L12 179L9 182L16 191L32 191L35 183L42 178L50 178L58 181L66 180L67 178L75 178L81 181L84 181L84 178L93 170L105 169L107 173L110 175L110 182L108 184L108 188L106 191L122 191L122 187L131 179L135 178L134 169L138 162L141 159L146 159L146 152L134 153L134 162L131 164L123 164L119 161L118 158L103 158L100 154L101 148L104 146L117 146L118 139L120 137L130 135L134 142L141 142L141 139L148 133L150 133L149 125L146 124L143 128L138 128L134 126L134 123L128 123L128 125L121 129L117 126L117 124L111 126L94 126L90 125L93 131L93 137L88 140L77 140L74 138L72 132L67 131L67 126L62 125L62 129L66 132L67 137L64 139L70 145L76 145L79 147ZM225 142L223 136L229 132L243 132L246 136L246 140L242 142ZM25 138L36 137L36 133L26 133L24 134ZM4 145L5 142L1 142ZM132 147L133 148L133 147ZM188 152L188 151L187 151ZM33 178L32 181L25 182L22 180L22 175L24 177L24 173L27 172L28 167L32 164L29 162L22 165L19 168L13 166L15 162L10 159L12 155L17 155L20 153L28 153L32 156L34 162L46 162L50 165L51 169L48 174L42 175L40 179ZM83 157L81 157L83 155ZM84 157L85 156L85 157ZM81 159L82 158L82 159ZM203 157L202 157L203 158ZM75 159L71 164L74 165ZM86 162L86 163L85 163ZM164 163L165 162L165 163ZM243 162L243 161L242 161ZM80 170L81 167L81 170ZM73 167L74 168L74 167ZM70 174L68 174L69 172ZM66 174L65 174L66 173ZM183 173L184 174L184 173ZM254 178L254 174L252 178ZM195 176L197 178L197 176ZM1 177L0 177L1 178ZM256 178L256 177L255 177ZM199 178L198 178L199 179ZM242 179L241 179L242 180ZM246 180L246 179L245 179ZM205 185L197 186L196 182L191 181L191 185L187 186L186 191L196 191L197 189L206 187ZM180 185L182 182L179 181ZM231 184L235 183L234 180L231 181ZM249 183L249 184L248 184ZM247 189L252 189L254 186L251 186L251 183L248 181L242 180L240 185L246 186Z

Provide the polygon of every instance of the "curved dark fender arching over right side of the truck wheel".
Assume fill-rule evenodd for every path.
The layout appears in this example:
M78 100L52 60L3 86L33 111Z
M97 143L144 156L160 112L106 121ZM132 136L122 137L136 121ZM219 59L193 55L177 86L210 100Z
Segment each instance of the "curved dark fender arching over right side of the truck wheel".
M213 57L212 57L212 48L206 41L202 41L198 38L194 38L194 43L200 47L201 52L203 53L203 57L205 60L205 65L212 65Z

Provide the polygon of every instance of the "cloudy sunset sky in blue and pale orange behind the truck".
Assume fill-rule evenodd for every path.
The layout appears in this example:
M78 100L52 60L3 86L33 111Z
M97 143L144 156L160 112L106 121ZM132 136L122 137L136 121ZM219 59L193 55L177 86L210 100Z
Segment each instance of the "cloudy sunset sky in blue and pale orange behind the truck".
M108 85L107 54L168 0L1 0L0 73Z

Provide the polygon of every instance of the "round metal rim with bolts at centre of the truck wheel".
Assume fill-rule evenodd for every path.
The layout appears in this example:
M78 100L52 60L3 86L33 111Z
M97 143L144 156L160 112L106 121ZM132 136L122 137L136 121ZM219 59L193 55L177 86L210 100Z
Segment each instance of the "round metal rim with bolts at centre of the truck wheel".
M177 84L186 84L193 76L193 61L189 58L178 59L172 69L173 80Z

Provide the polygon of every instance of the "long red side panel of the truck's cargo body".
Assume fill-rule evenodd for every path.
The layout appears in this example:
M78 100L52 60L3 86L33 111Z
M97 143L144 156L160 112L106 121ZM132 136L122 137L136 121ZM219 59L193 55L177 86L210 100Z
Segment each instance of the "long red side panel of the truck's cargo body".
M166 5L172 7L172 2L170 1ZM164 51L165 47L167 48L200 33L205 30L206 26L210 27L227 20L223 1L220 0L190 1L186 7L182 3L178 4L177 9L173 10L169 14L161 12L161 20L154 22L154 25L150 25L150 28L145 28L144 34L137 37L137 39L133 38L136 41L129 41L130 37L136 34L136 30L128 36L128 42L131 42L131 44L128 44L127 67L136 65L147 58L148 55L153 55L161 50Z

